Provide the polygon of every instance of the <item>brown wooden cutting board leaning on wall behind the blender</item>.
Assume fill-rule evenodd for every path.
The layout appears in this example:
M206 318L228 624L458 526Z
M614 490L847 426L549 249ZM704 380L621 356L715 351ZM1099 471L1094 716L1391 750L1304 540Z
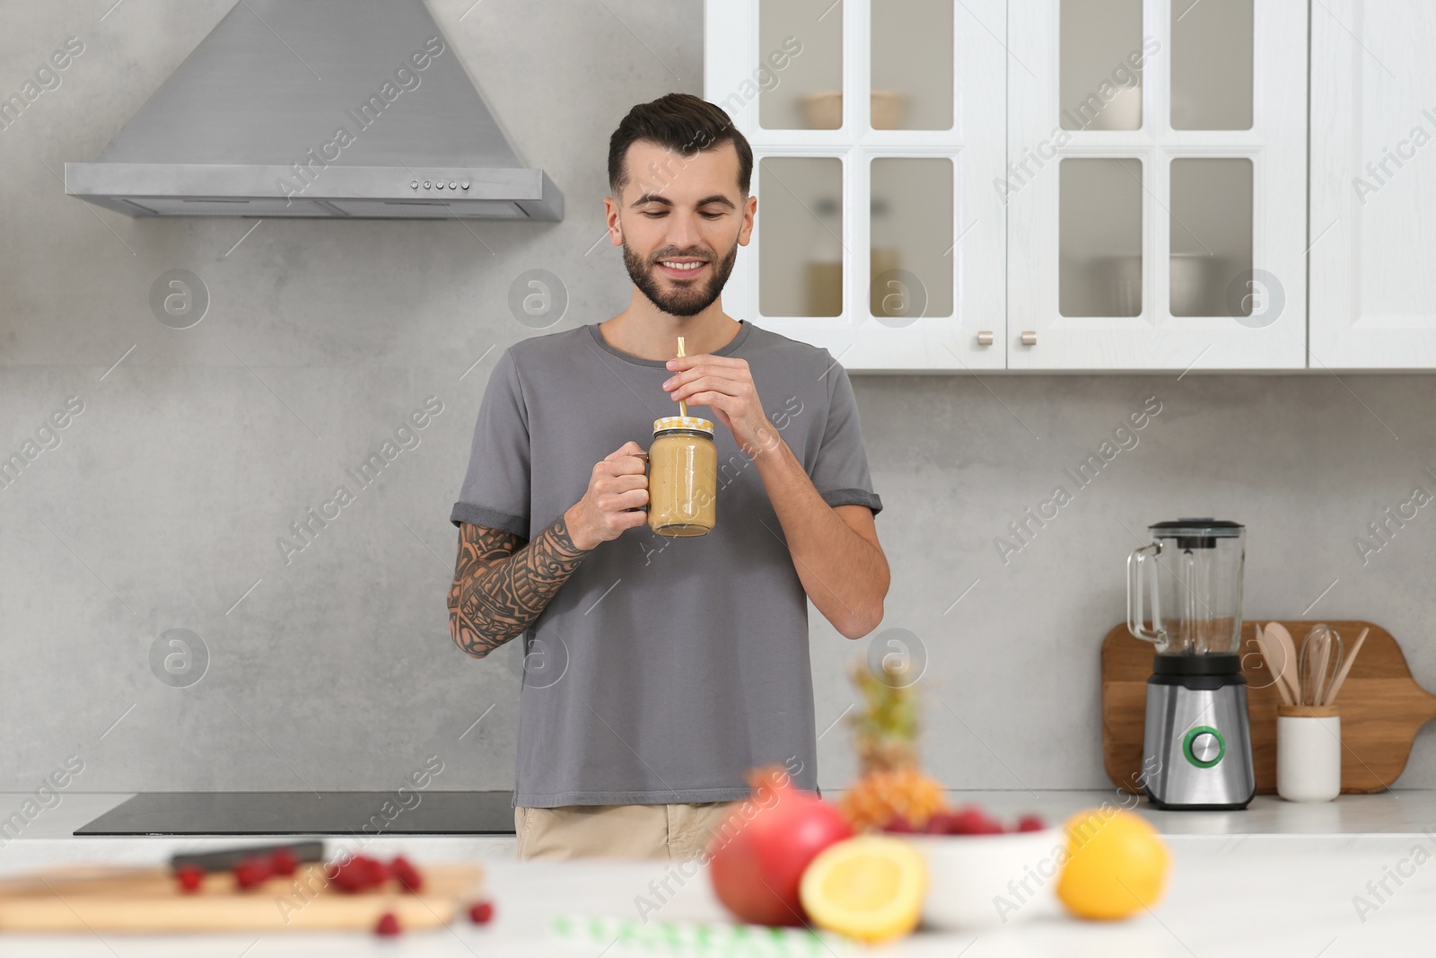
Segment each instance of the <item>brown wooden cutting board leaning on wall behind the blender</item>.
M1300 619L1278 622L1291 632L1298 652L1301 639L1317 623ZM1406 768L1416 733L1436 718L1436 695L1416 684L1402 646L1381 626L1331 619L1325 623L1341 635L1348 649L1361 629L1371 629L1337 692L1335 704L1341 707L1341 791L1381 791ZM1140 791L1136 783L1142 771L1142 730L1153 652L1153 645L1132 638L1124 623L1109 632L1101 643L1101 753L1107 777L1123 791ZM1242 623L1241 656L1256 791L1275 794L1277 705L1281 697L1256 648L1256 626L1251 622Z

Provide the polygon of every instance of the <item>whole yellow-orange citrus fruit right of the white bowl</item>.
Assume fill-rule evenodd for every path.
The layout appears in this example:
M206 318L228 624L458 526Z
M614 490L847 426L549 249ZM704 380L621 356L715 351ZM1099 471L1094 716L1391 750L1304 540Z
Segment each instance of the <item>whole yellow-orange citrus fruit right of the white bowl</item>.
M1127 918L1166 889L1172 855L1146 819L1101 807L1067 820L1067 860L1057 898L1078 918Z

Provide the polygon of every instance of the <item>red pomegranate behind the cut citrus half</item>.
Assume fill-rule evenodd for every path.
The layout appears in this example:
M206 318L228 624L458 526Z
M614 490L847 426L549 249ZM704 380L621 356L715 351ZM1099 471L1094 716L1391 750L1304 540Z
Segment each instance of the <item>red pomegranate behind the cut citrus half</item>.
M718 901L740 921L755 925L803 925L798 901L803 869L819 852L853 836L836 806L793 787L773 766L748 776L751 819L735 807L708 846L708 873Z

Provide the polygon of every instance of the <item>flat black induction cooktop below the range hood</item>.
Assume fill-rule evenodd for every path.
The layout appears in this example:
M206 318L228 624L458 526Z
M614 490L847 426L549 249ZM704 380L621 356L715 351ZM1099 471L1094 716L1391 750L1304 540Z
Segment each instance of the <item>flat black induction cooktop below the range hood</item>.
M75 834L514 834L511 791L142 791Z

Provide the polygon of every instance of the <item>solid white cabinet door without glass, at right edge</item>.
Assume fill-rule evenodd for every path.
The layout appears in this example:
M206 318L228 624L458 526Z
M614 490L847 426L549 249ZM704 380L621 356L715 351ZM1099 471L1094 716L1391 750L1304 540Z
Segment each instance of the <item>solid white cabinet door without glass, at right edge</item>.
M1436 366L1436 4L1311 13L1313 369Z

